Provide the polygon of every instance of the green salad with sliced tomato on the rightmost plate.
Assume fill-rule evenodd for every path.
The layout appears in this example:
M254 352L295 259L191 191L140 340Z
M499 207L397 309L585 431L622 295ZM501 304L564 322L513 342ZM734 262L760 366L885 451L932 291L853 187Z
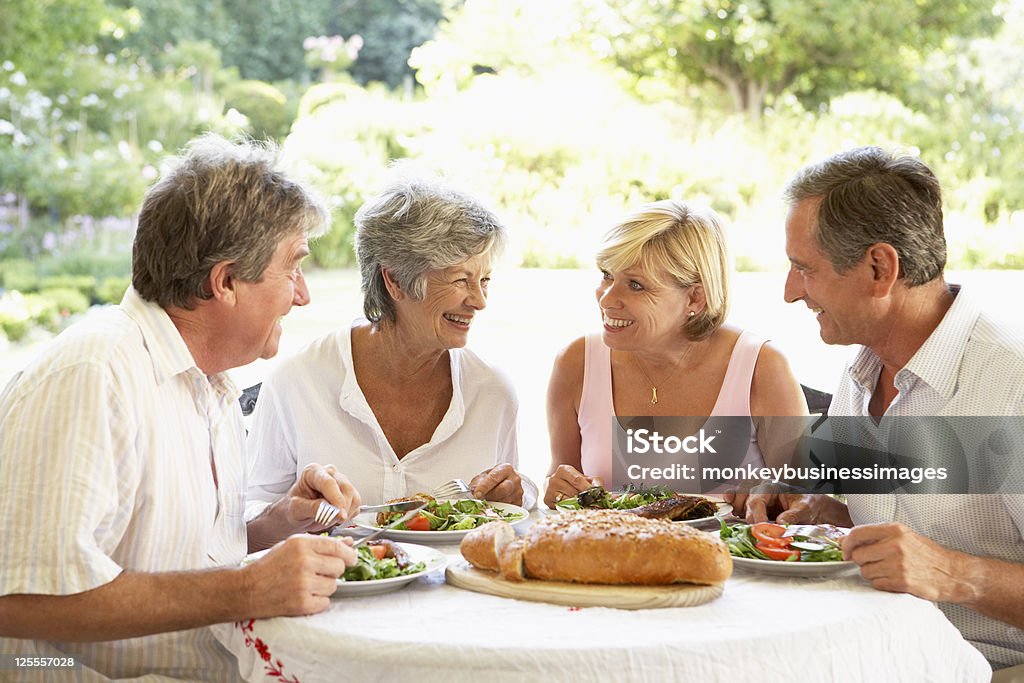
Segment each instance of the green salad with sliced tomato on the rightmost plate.
M842 562L843 551L834 538L783 536L784 524L733 524L721 521L721 538L735 557L776 562ZM835 528L835 527L831 527ZM838 528L836 532L842 535Z

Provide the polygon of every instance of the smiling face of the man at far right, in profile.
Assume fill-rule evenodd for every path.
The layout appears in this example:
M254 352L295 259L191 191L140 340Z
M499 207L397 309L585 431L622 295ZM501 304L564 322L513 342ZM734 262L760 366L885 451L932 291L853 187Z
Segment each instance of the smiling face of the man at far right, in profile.
M815 239L820 198L795 204L785 219L785 279L787 303L803 301L817 314L821 340L826 344L865 344L872 319L870 266L866 260L839 273Z

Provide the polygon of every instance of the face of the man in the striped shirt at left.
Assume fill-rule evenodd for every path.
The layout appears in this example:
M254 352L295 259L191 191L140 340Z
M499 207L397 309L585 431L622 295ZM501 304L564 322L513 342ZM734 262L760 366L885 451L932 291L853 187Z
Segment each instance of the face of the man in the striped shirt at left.
M258 283L238 281L237 318L232 325L241 342L245 365L256 358L270 358L281 343L281 318L292 306L309 303L309 290L302 274L302 259L309 255L305 234L286 238Z

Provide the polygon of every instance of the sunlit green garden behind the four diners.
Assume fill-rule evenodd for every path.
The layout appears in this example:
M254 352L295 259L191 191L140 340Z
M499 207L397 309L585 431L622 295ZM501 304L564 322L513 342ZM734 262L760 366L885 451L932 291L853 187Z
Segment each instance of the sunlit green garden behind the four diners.
M275 140L325 195L314 268L353 264L410 159L487 198L512 266L590 267L672 197L779 271L784 180L866 143L936 169L951 267L1024 267L1020 2L6 0L0 45L6 351L120 300L142 196L204 131Z

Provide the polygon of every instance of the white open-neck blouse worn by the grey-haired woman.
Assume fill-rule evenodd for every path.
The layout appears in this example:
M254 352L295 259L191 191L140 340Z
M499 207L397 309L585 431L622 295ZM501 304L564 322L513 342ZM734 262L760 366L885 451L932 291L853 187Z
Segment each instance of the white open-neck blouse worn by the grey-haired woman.
M449 409L430 440L400 460L359 389L350 328L279 364L260 389L249 434L248 516L284 495L309 463L335 465L368 504L468 480L502 463L518 467L511 384L468 349L451 349L449 357ZM525 477L523 487L536 500Z

